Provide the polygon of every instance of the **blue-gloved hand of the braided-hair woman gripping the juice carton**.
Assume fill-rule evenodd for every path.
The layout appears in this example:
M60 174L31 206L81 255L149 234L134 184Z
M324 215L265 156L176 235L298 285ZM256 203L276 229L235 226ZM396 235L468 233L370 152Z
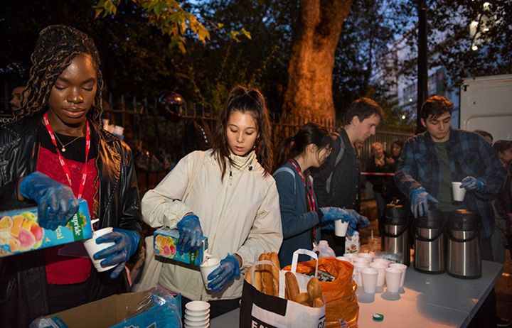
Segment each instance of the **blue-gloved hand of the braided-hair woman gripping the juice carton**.
M38 204L38 223L44 229L65 226L78 211L73 190L38 171L23 178L19 192L23 198L33 199Z

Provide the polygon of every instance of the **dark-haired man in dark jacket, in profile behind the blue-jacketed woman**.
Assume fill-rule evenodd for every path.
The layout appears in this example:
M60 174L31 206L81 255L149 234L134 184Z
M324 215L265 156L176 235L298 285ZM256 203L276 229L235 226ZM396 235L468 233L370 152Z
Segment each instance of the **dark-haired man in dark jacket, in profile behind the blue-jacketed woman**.
M361 173L356 146L375 135L375 129L383 116L380 106L369 98L357 99L348 107L346 125L339 129L333 152L324 165L315 170L311 169L319 207L341 207L358 211ZM336 255L345 253L344 237L336 237L334 231L329 230L323 230L321 234Z

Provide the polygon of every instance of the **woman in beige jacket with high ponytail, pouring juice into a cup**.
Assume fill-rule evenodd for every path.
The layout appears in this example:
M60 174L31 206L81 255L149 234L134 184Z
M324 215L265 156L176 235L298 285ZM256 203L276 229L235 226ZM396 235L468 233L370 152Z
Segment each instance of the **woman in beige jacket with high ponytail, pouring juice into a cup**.
M211 255L222 258L208 275L209 291L198 270L167 263L161 268L159 284L181 293L183 306L209 301L210 317L239 307L242 275L261 253L277 252L282 243L279 195L270 175L270 121L259 90L231 90L214 142L212 150L186 155L142 199L147 224L178 229L178 252L196 251L204 235Z

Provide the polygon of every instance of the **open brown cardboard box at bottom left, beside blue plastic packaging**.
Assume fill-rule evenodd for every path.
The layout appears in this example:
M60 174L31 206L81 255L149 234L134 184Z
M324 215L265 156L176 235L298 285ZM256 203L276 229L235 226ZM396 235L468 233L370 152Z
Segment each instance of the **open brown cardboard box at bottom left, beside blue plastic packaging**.
M114 325L116 327L131 327L131 320L119 326L117 324L122 322L124 318L133 315L139 302L148 294L147 291L117 294L79 307L73 307L73 309L57 312L46 316L48 327L107 328Z

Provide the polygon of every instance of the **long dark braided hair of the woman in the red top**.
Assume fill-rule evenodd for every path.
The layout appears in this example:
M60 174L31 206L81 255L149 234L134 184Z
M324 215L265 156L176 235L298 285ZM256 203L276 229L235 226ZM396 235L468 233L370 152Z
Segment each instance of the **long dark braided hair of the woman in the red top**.
M57 77L77 55L90 55L97 74L95 102L87 119L100 129L103 87L100 55L89 35L65 25L50 25L39 33L36 48L31 55L32 67L21 108L14 113L14 121L48 110L48 99Z

